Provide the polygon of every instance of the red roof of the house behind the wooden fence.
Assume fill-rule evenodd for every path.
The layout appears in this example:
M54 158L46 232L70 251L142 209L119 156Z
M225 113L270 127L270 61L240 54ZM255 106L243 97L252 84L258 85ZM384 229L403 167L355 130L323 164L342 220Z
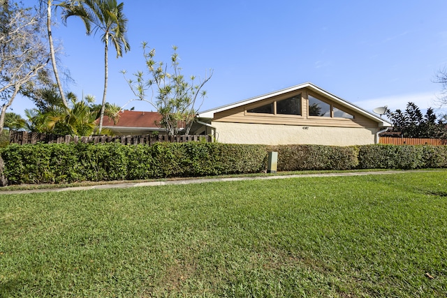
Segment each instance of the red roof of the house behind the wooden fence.
M161 114L158 112L139 112L124 110L119 112L117 124L112 119L104 117L103 126L139 127L139 128L159 128Z

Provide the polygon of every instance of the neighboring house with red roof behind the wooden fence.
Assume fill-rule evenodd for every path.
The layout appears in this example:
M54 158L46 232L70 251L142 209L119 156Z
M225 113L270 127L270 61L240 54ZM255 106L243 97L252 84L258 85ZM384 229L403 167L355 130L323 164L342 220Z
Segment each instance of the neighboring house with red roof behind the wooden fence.
M161 114L158 112L138 112L124 110L119 112L115 124L112 119L104 117L103 128L107 128L115 135L147 135L153 132L165 133L159 126Z

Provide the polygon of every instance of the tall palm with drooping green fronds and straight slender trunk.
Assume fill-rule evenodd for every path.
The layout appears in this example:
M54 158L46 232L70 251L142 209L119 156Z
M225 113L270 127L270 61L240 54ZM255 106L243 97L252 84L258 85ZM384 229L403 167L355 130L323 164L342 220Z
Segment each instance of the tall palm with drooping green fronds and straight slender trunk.
M85 24L87 35L93 31L101 31L101 40L104 47L104 93L99 118L98 134L103 129L103 118L105 111L105 95L107 94L108 83L108 49L109 43L117 50L117 58L122 57L125 52L131 49L126 39L127 19L123 13L124 3L117 3L116 0L80 0L64 1L60 4L64 7L63 20L68 17L80 17ZM93 29L91 28L93 26Z

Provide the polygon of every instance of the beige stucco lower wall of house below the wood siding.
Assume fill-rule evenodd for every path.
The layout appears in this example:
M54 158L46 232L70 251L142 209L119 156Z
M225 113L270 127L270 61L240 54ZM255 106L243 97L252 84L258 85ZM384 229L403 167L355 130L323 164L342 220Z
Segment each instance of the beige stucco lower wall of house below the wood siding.
M212 121L217 142L236 144L374 144L375 128L288 126Z

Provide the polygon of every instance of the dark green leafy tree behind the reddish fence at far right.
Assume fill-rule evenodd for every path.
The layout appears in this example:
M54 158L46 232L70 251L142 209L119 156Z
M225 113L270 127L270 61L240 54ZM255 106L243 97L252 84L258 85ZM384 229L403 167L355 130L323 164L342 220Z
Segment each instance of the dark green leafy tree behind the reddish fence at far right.
M408 103L406 109L386 111L386 116L393 123L393 131L403 137L445 138L447 129L444 119L438 119L431 107L425 115L415 103Z

